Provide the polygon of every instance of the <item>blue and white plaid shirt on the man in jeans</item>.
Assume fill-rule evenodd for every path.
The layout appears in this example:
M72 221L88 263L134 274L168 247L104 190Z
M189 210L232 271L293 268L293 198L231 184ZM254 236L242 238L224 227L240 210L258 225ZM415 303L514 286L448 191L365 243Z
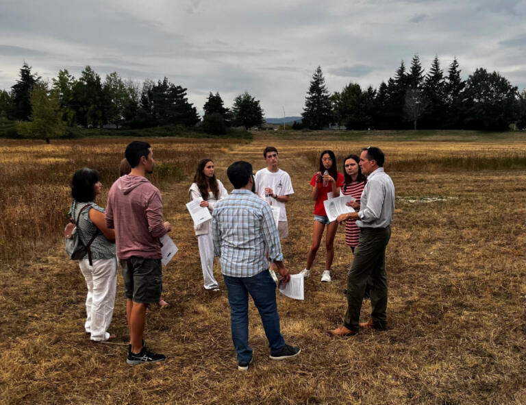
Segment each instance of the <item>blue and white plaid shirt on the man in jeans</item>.
M270 260L283 260L271 206L248 190L234 190L216 203L212 213L214 255L221 272L252 277L268 269Z

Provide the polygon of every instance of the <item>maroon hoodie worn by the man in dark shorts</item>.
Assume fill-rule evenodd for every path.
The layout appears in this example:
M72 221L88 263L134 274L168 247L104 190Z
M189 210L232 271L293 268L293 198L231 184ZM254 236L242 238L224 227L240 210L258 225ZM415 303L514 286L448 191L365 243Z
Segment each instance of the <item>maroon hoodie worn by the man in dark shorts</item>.
M117 257L160 259L159 238L166 234L162 200L146 177L123 175L108 193L106 225L115 229Z

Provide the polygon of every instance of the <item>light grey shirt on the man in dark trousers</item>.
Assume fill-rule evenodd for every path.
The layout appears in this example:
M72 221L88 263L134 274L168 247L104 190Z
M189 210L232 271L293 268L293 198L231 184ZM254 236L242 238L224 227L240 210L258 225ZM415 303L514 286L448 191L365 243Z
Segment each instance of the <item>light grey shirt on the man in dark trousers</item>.
M362 191L360 212L356 225L360 228L387 228L395 212L395 185L391 177L379 167L367 176L367 182Z

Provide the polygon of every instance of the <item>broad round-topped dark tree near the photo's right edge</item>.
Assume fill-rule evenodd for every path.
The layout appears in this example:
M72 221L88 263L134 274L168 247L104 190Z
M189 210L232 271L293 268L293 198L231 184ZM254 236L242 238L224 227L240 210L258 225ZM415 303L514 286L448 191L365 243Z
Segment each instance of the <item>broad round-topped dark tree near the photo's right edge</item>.
M461 93L464 125L473 130L508 130L518 118L517 88L499 73L479 68Z

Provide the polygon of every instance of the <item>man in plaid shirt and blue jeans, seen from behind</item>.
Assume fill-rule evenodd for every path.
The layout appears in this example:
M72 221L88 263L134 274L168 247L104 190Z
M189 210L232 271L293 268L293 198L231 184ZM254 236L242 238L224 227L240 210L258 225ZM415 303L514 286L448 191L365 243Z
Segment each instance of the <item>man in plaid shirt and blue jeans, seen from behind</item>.
M290 275L283 265L271 207L253 193L254 178L250 163L234 162L227 175L234 191L214 207L214 254L221 259L221 272L227 286L238 369L247 370L253 360L253 351L249 346L249 294L260 312L271 359L297 356L300 349L287 345L279 330L276 284L268 272L266 251L277 267L280 282L286 284Z

